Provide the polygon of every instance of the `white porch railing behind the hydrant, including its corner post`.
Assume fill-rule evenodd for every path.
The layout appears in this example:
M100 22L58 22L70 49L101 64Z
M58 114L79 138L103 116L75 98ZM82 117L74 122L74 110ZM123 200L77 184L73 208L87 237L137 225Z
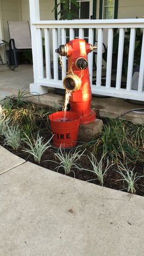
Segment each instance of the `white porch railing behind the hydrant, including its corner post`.
M32 53L34 64L34 84L31 84L31 93L46 93L48 87L63 88L62 80L59 78L58 54L56 49L59 44L65 44L67 40L73 40L77 37L76 30L79 31L79 38L84 38L84 29L88 29L88 43L93 45L94 34L98 40L96 71L93 71L93 52L88 54L88 68L90 72L90 81L92 84L92 93L96 95L108 95L119 98L128 98L144 101L144 37L142 39L142 49L140 58L140 67L137 72L137 84L132 87L134 82L134 51L135 51L135 31L140 28L144 31L144 19L126 19L126 20L71 20L71 21L40 21L39 10L35 12L34 5L30 1L31 10L31 34L32 34ZM36 8L36 6L35 6ZM38 7L37 7L38 8ZM36 13L36 14L35 14ZM113 51L113 29L119 29L118 41L118 60L117 70L112 76L112 51ZM121 83L123 68L123 49L126 29L131 29L128 54L128 71L125 76L125 84ZM103 65L103 37L107 30L107 63L106 76L102 78ZM45 46L43 41L45 38ZM45 65L43 65L45 59ZM62 79L67 70L67 58L62 57L63 68L61 72ZM45 67L44 67L45 66ZM52 75L52 66L53 75ZM95 74L96 72L96 74ZM96 78L93 78L96 75ZM123 86L122 86L123 85Z

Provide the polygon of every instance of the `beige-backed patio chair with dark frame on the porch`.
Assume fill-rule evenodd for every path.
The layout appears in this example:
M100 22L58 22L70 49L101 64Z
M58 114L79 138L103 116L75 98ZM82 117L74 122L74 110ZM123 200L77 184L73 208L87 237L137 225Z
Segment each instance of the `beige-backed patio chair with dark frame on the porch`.
M32 49L31 31L28 21L7 21L9 27L9 56L7 64L11 70L18 67L18 52Z

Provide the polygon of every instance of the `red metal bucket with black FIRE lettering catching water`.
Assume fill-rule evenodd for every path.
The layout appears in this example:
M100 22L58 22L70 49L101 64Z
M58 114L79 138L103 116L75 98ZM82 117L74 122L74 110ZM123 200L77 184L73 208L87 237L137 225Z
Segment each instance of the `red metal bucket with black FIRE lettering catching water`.
M64 148L74 147L79 131L79 114L67 111L63 122L64 114L63 111L59 111L49 115L51 131L55 134L53 143L56 147L60 147L61 144Z

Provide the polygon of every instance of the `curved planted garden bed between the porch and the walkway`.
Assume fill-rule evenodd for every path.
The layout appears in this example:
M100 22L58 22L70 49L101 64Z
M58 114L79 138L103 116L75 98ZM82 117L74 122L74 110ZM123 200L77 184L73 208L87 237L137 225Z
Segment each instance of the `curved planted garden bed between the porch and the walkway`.
M132 125L124 120L104 119L102 133L93 138L92 141L87 144L79 142L79 146L74 148L72 152L64 152L62 148L57 150L52 145L51 147L47 145L48 148L38 163L35 161L34 155L26 152L26 148L30 149L26 141L31 141L35 145L34 139L37 139L37 135L39 138L43 137L41 139L43 144L51 139L48 115L57 109L34 105L23 101L21 97L9 98L2 101L1 104L3 114L0 114L0 119L9 119L9 122L5 123L5 132L9 131L7 127L16 127L20 131L20 145L17 149L7 142L7 134L4 131L1 132L0 144L10 152L26 159L26 161L31 161L53 171L59 171L70 177L144 196L143 126ZM1 126L0 122L0 131ZM60 150L62 151L60 152ZM62 166L62 163L60 164L57 153L61 156L68 156L68 154L69 156L77 156L74 160L76 166L72 166L70 173ZM103 178L102 180L98 179L95 172L92 172L94 162L95 167L96 164L99 167L99 175ZM106 167L107 172L104 174ZM131 185L126 181L128 175L131 176L130 181L133 178L134 184Z

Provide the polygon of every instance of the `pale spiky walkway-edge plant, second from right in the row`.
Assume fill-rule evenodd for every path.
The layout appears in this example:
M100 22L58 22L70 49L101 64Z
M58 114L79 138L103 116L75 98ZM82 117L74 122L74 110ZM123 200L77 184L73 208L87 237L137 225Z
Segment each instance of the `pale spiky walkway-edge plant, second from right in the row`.
M88 172L93 172L96 175L96 177L98 178L101 186L104 185L104 176L106 175L107 170L109 170L109 168L112 166L112 164L109 165L109 159L107 159L106 167L103 166L103 160L104 160L105 156L106 156L106 154L103 155L101 157L100 161L98 162L98 160L93 155L93 153L91 153L91 157L88 156L88 159L90 160L90 163L92 164L93 170L84 169L84 170L88 170ZM96 179L92 179L92 180L96 180ZM92 180L87 180L87 181L92 181Z

